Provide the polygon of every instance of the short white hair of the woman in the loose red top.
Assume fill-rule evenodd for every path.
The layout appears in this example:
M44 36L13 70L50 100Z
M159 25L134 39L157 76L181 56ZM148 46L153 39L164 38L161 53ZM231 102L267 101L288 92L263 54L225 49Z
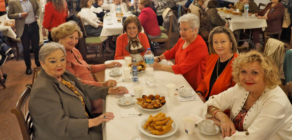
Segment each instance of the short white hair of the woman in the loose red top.
M200 27L200 19L195 14L188 13L188 14L181 16L178 20L178 23L180 24L182 22L189 23L190 28L192 28L193 30L195 30L196 28L199 29L199 27Z

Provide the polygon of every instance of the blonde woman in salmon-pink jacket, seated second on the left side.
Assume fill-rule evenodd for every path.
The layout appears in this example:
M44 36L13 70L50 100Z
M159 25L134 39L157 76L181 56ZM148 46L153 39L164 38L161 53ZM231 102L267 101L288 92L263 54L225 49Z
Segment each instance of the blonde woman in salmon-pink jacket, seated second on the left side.
M88 65L82 58L80 52L74 47L78 43L78 39L82 37L80 27L74 21L61 24L57 28L52 29L52 38L54 42L58 42L65 46L66 49L66 70L73 73L77 79L83 84L93 86L110 86L117 84L115 80L107 80L99 82L93 75L107 67L122 66L119 62L111 62L108 64ZM90 100L93 113L102 113L102 99Z

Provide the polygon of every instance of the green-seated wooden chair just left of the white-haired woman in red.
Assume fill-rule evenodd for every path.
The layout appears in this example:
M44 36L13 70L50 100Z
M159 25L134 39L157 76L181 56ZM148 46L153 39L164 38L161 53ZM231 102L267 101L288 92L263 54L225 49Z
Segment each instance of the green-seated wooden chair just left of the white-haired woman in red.
M170 38L171 38L171 30L172 30L172 18L174 18L174 15L171 15L170 17L170 25L168 27L168 34L161 33L160 37L157 37L155 39L151 39L151 42L165 42L166 49L169 50L169 44L170 44ZM154 48L160 48L161 45L154 45Z

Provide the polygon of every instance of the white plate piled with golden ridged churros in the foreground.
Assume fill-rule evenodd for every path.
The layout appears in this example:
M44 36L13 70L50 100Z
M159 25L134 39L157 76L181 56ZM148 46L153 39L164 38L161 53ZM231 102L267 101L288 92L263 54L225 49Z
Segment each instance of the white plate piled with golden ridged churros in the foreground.
M178 130L178 124L165 113L158 113L143 118L139 123L139 129L147 136L163 138L173 135Z

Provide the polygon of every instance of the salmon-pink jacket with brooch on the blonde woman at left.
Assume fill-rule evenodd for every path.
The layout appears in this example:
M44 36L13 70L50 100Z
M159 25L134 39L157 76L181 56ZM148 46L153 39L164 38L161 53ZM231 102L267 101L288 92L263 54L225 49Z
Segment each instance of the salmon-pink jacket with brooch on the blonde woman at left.
M90 71L90 67L83 60L80 52L75 47L71 51L66 50L66 54L67 54L66 55L66 70L69 70L76 77L82 79L80 81L83 84L99 86L100 82L97 82L93 79L91 71ZM77 62L76 58L81 64ZM92 73L97 73L101 70L104 70L106 67L105 67L105 64L100 64L100 65L91 65L91 68L92 68Z

